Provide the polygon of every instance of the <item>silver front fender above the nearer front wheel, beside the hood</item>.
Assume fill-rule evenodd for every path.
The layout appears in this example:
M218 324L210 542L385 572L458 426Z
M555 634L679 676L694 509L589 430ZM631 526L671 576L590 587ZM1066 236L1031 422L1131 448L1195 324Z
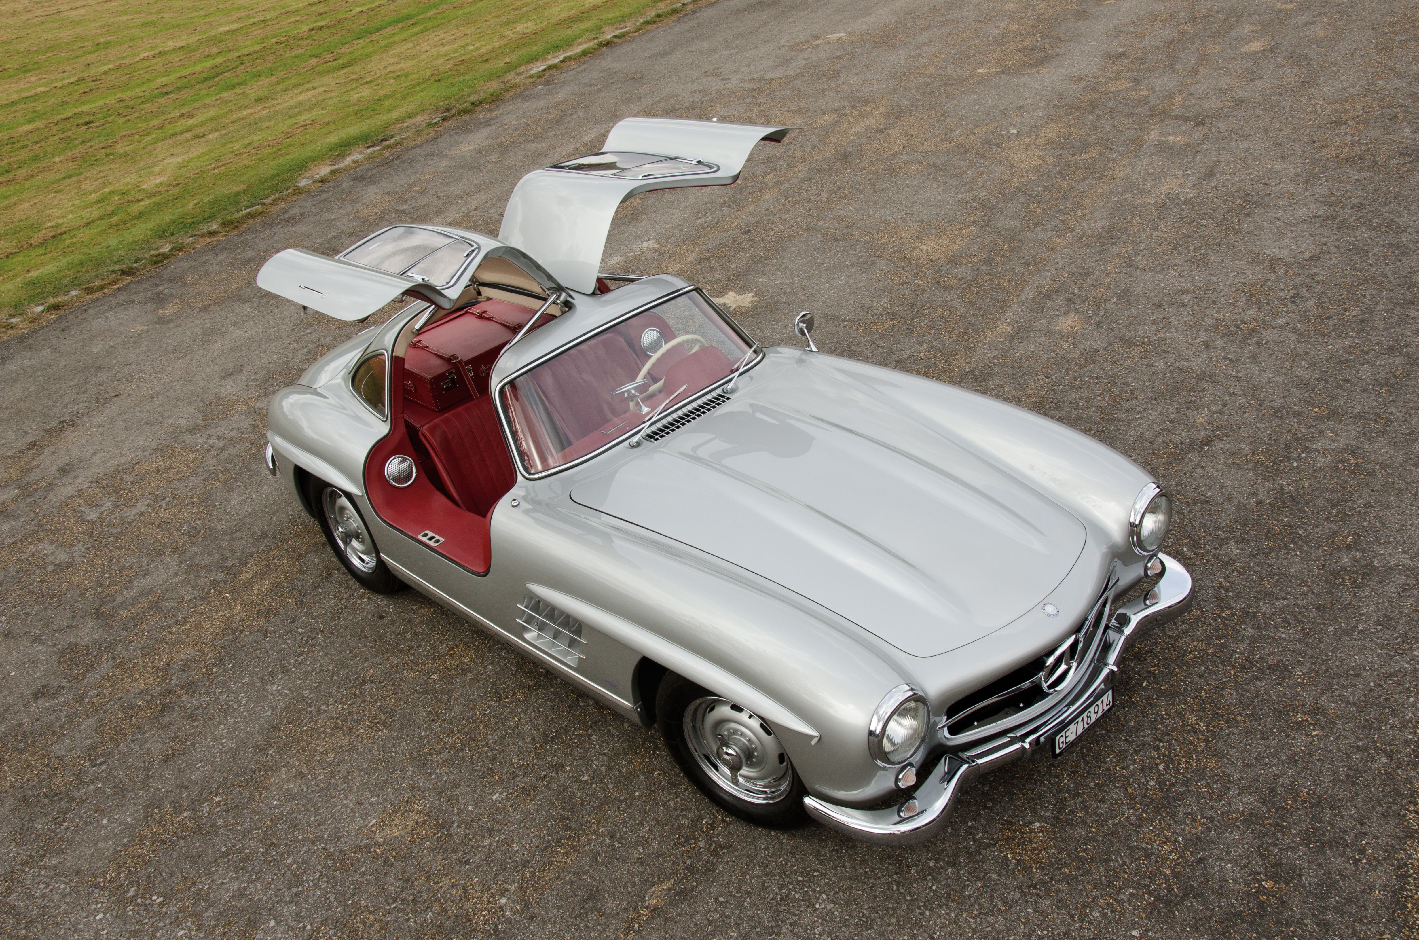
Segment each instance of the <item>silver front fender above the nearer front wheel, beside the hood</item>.
M864 804L893 789L867 724L912 677L880 640L752 572L539 490L492 517L494 572L509 588L766 718L810 792Z

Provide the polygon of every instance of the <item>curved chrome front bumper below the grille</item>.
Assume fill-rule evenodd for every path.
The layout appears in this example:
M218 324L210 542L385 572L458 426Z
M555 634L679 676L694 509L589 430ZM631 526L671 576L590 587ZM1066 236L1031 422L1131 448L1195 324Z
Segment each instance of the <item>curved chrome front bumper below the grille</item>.
M878 845L914 845L939 832L961 791L981 774L1049 747L1050 737L1073 721L1104 689L1114 684L1118 660L1148 630L1176 619L1192 606L1192 575L1178 559L1159 554L1162 576L1148 594L1118 608L1084 682L1067 699L1027 724L966 751L944 755L925 772L917 792L888 809L850 809L805 797L809 815L854 839Z

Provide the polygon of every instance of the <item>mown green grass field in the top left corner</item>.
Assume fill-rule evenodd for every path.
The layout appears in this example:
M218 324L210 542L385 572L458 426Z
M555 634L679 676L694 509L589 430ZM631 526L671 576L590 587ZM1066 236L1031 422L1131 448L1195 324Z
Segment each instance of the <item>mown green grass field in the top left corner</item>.
M0 310L95 290L664 0L0 0ZM61 304L64 301L60 301Z

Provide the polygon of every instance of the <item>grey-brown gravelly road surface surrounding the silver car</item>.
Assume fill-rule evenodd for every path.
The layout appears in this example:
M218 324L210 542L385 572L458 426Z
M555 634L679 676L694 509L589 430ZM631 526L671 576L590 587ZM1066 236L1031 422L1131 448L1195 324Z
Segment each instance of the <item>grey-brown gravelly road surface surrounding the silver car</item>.
M721 0L0 344L10 937L1413 937L1413 0ZM1176 494L1196 609L1059 761L880 849L753 829L654 734L265 476L355 327L299 246L497 231L626 115L797 124L607 267L1080 427ZM883 498L891 498L884 493Z

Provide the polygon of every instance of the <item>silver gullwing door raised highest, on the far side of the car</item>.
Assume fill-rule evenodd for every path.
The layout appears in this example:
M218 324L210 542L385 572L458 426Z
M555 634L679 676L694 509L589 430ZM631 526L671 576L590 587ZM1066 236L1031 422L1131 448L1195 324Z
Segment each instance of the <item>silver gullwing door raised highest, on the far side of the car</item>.
M759 141L793 128L626 118L599 153L532 170L518 182L498 239L535 257L562 284L590 294L617 206L677 186L728 186Z

